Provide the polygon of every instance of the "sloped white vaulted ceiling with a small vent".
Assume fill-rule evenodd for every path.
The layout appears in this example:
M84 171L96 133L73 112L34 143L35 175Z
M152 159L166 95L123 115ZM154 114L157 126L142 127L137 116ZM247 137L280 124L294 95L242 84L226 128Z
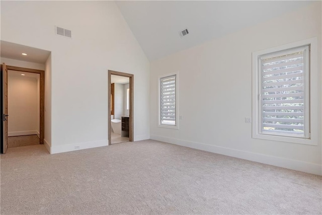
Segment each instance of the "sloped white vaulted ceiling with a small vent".
M310 1L117 1L150 60L281 16ZM180 37L179 32L189 34Z

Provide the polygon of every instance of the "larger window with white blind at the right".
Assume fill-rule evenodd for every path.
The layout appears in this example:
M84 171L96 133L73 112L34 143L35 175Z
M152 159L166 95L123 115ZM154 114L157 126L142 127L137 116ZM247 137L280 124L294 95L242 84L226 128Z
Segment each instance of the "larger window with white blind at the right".
M253 137L310 138L310 44L253 53Z

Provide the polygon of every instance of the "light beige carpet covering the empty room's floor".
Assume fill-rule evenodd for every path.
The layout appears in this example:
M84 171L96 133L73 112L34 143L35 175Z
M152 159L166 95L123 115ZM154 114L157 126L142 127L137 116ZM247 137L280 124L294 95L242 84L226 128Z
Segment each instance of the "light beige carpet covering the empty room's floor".
M1 155L1 214L321 214L322 177L154 140Z

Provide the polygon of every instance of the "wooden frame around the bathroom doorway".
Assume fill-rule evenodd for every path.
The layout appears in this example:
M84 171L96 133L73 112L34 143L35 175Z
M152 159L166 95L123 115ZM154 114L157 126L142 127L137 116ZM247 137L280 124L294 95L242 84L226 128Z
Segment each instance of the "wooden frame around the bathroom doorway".
M120 71L113 71L113 70L108 70L108 145L112 145L112 141L111 141L111 76L115 75L115 76L123 76L123 77L128 77L129 80L129 89L130 89L130 105L129 105L129 141L132 142L133 140L133 131L134 131L134 127L133 127L133 115L134 115L134 106L133 106L133 98L134 98L134 75L132 74L128 74L128 73L121 73Z

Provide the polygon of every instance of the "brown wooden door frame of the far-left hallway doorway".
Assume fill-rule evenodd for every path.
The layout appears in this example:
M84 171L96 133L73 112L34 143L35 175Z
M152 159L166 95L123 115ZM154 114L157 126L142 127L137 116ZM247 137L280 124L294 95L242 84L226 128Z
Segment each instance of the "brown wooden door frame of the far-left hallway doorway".
M32 69L32 68L24 68L18 66L11 66L7 65L8 71L23 71L25 73L35 73L40 75L40 113L39 113L39 142L40 144L44 144L45 138L45 71L39 69Z

